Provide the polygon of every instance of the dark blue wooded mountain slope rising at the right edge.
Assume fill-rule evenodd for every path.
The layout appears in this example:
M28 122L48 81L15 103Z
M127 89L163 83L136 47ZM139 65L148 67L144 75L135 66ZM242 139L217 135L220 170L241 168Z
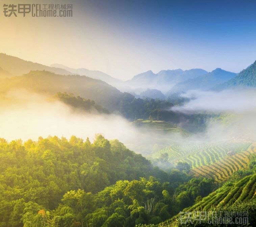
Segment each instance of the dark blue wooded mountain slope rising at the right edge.
M226 83L215 86L213 90L223 90L237 86L256 87L256 61Z

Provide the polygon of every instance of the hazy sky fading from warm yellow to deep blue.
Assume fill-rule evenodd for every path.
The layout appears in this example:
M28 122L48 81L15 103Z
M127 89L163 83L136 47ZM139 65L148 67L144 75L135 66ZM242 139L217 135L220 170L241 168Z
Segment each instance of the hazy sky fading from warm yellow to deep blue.
M46 65L125 80L147 70L239 72L256 60L255 0L0 2L0 52ZM4 3L35 2L73 4L73 17L4 17Z

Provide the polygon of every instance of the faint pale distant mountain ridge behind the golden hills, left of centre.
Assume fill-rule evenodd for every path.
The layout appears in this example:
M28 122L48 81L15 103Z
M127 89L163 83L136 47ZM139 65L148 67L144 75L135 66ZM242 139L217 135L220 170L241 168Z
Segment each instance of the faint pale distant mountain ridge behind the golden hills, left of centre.
M74 69L61 64L52 64L51 67L62 68L74 74L85 75L94 79L100 79L113 86L116 86L118 83L122 83L120 79L114 78L104 72L97 70L89 70L85 68Z

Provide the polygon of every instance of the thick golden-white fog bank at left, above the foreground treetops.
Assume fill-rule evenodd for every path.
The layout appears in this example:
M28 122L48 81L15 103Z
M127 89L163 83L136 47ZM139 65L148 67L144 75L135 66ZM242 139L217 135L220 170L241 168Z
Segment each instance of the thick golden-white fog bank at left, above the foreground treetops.
M114 114L85 113L48 96L27 91L11 91L0 97L0 137L37 140L51 136L72 135L91 141L95 134L107 139L119 139L128 148L150 153L155 143L169 145L173 138L164 140L164 135L138 129L126 119Z

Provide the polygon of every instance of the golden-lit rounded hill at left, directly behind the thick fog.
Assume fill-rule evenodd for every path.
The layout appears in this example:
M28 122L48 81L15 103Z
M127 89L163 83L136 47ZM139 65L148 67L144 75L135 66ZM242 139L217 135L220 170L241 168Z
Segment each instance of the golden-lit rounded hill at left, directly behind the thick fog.
M6 92L10 89L27 89L48 95L57 92L73 93L94 100L109 110L117 110L121 100L134 98L98 79L80 75L59 75L48 71L30 71L22 76L2 80L0 91Z

